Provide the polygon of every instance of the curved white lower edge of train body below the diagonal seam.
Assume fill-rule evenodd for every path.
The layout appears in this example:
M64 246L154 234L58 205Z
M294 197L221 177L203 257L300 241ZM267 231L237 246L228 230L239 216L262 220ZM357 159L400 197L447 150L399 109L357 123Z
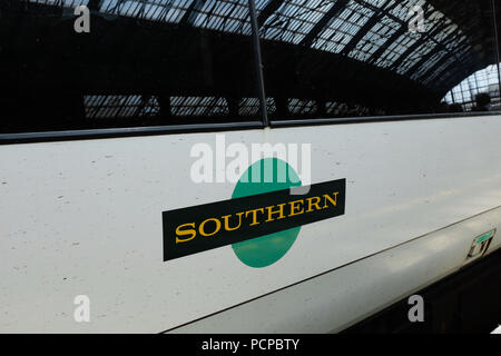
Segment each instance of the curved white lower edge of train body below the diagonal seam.
M492 221L501 221L501 208L171 333L341 332L456 271L472 234ZM489 250L500 246L495 236Z

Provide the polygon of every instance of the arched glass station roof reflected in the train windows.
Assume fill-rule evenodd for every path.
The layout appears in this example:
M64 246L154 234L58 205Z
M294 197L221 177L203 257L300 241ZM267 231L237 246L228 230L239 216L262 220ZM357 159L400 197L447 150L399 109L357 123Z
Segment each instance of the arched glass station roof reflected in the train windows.
M29 1L85 4L107 14L250 34L247 0ZM439 2L441 10L432 2ZM414 6L426 13L422 33L409 31L409 11ZM448 16L454 11L454 1L256 0L256 7L264 40L346 56L434 89L450 89L463 79L478 46Z

